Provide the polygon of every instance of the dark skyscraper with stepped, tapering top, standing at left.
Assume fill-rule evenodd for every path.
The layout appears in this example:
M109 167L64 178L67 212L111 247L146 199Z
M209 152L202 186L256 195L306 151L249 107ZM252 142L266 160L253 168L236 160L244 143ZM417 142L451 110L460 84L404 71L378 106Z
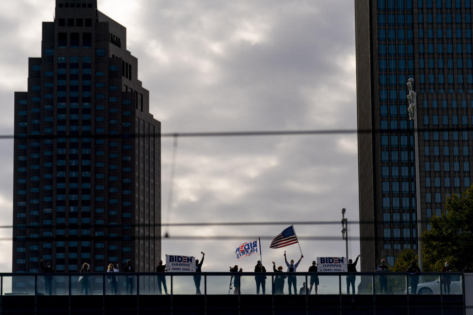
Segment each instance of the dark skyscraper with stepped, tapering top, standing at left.
M91 271L161 255L160 122L125 27L97 0L56 0L15 93L13 272Z

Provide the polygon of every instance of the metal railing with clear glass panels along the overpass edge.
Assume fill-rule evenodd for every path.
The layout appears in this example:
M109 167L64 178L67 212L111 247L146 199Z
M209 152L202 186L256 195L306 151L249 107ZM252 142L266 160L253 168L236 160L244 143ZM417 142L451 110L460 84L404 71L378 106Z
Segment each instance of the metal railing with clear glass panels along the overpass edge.
M290 288L289 288L290 285ZM48 273L0 274L9 295L464 295L462 273Z

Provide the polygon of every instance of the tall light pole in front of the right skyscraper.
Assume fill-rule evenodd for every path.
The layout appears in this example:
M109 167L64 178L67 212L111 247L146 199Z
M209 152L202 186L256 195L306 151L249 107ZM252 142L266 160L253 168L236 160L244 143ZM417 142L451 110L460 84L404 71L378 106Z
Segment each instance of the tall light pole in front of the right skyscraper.
M420 168L419 168L419 135L417 131L417 94L413 90L414 79L409 78L407 81L407 112L409 120L414 121L414 159L415 159L415 200L416 200L416 219L417 219L417 251L419 255L419 268L422 269L422 211L420 205Z

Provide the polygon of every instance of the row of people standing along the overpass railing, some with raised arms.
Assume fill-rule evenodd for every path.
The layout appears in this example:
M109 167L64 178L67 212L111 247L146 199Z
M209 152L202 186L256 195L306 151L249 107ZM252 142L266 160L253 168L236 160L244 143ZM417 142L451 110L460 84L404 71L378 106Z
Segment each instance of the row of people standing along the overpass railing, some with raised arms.
M205 257L205 253L202 253L202 259L199 261L196 259L196 275L193 276L194 279L194 284L196 287L196 294L201 294L201 275L200 273L202 272L202 265L203 265L203 260ZM358 255L353 262L352 259L348 259L348 264L347 264L347 276L346 278L346 293L350 294L350 288L352 294L355 294L355 280L356 280L356 275L354 273L357 272L356 270L356 265L358 263L358 259L361 257L361 255ZM284 285L286 283L287 279L287 287L289 291L289 295L293 294L312 294L312 289L314 290L314 293L317 294L317 287L319 285L319 277L317 275L313 275L313 273L317 273L317 263L316 261L312 261L312 265L309 266L308 272L312 273L309 275L309 285L308 286L305 282L303 283L303 286L297 290L297 277L296 277L296 271L297 268L299 267L299 264L301 263L302 258L304 258L304 255L301 255L301 258L297 262L294 262L294 259L291 259L290 262L287 261L287 256L286 252L284 252L284 261L286 263L287 269L286 272L283 272L283 267L278 266L276 268L276 263L273 261L272 262L272 270L276 275L274 276L274 282L272 285L272 293L273 294L284 294ZM50 275L51 273L54 273L55 271L51 267L51 262L48 262L46 266L43 264L43 259L40 260L40 268L43 273L47 274L44 276L44 291L48 295L52 295L52 280L53 276ZM157 282L158 282L158 293L162 294L163 290L165 294L168 293L168 287L166 284L166 276L161 275L162 273L165 273L167 271L166 265L163 264L162 260L159 260L159 264L156 267L156 272L160 275L157 276ZM450 267L449 262L445 262L441 272L451 272L452 269ZM113 265L109 264L107 267L107 273L118 273L120 272L119 266L118 265ZM135 272L135 269L132 265L132 262L130 260L127 261L127 263L122 267L121 272L123 273L133 273ZM234 267L230 267L230 273L241 273L243 272L242 268L238 268L237 265ZM266 294L266 280L267 276L265 275L266 273L266 268L263 266L261 263L261 260L258 260L254 269L255 272L255 283L256 283L256 294ZM381 294L388 294L388 276L385 273L390 272L389 267L386 264L385 259L381 259L381 264L376 267L375 272L382 273L381 275L377 276L378 284L379 284L379 293ZM416 261L412 260L411 265L405 270L405 272L409 273L409 281L410 281L410 292L409 294L416 294L417 293L417 285L419 284L419 273L421 272L420 268L417 266ZM469 267L465 267L464 272L472 272L472 270ZM78 283L80 284L80 293L88 295L89 290L90 290L90 280L89 277L86 275L86 273L90 273L90 265L88 263L84 263L82 265L82 268L79 271L80 276L78 277ZM134 284L135 281L133 279L133 276L131 274L126 275L126 292L127 294L133 294L134 290ZM107 275L107 281L109 284L109 288L113 294L117 294L118 292L118 277L116 275ZM440 284L441 284L441 290L444 294L450 294L450 284L451 280L448 275L442 275L440 277ZM232 285L234 287L234 294L239 294L240 293L240 277L236 275L231 275L231 280L230 280L230 289L229 293L232 290Z

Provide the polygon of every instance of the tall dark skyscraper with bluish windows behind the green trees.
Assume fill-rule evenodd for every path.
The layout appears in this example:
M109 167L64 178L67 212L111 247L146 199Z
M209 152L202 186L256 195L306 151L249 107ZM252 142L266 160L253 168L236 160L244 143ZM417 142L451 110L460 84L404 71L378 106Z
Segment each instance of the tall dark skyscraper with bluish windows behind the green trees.
M416 249L416 220L444 211L471 184L471 0L355 0L362 270ZM406 82L417 92L421 218L416 217L414 128ZM372 132L370 132L372 131Z

